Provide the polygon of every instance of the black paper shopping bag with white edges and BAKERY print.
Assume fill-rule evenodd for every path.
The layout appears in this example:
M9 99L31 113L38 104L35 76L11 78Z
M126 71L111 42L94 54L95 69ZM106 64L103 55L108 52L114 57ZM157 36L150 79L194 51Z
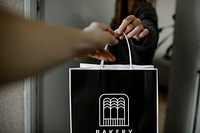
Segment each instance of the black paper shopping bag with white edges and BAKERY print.
M71 133L157 133L157 69L70 69Z

